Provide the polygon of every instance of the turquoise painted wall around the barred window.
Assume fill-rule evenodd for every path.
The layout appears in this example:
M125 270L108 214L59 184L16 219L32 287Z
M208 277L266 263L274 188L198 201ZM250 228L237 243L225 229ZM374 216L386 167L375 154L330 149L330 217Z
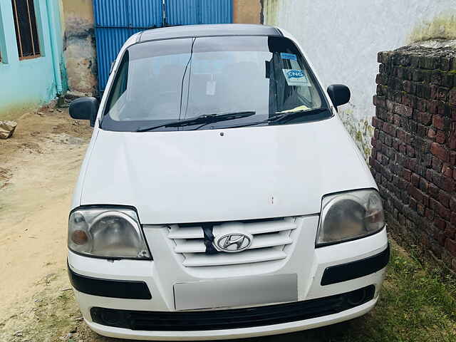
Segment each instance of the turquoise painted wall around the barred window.
M19 61L11 0L0 0L0 120L16 118L66 90L58 0L34 0L41 57Z

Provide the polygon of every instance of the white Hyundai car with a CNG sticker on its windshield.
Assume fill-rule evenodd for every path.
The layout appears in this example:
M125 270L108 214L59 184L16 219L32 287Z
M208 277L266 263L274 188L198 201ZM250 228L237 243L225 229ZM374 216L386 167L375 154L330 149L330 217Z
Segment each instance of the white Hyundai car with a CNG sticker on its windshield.
M334 76L336 77L336 75ZM68 222L68 273L104 336L209 340L366 314L389 247L375 181L280 28L131 36L93 125Z

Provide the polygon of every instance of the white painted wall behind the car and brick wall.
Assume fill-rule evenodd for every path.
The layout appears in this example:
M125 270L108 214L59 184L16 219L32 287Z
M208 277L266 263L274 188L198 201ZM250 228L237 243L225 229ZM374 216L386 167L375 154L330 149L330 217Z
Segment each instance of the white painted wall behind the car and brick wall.
M341 118L367 156L378 51L422 38L456 38L456 0L264 0L264 24L299 40L323 86L351 89Z

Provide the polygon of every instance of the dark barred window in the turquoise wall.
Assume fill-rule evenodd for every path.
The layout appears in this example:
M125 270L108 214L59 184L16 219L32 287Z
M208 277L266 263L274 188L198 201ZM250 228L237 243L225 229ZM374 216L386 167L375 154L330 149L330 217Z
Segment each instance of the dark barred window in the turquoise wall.
M43 56L43 53L41 52L41 34L40 30L38 28L38 19L37 19L37 14L39 14L39 11L36 8L35 0L24 0L26 1L27 4L27 12L28 14L28 28L30 30L30 38L31 38L31 48L33 51L33 54L30 56L24 56L24 49L22 45L22 37L21 37L21 28L19 25L19 15L17 11L17 1L18 0L11 0L11 9L13 11L13 21L14 21L14 30L15 30L15 35L16 35L16 45L17 45L17 52L19 56L19 61L26 61L28 59L34 59L34 58L40 58ZM34 24L36 28L35 36L37 40L37 46L38 46L38 52L35 51L35 39L33 38L33 25L32 25L32 18L31 18L31 11L30 8L33 6L33 14L34 14Z

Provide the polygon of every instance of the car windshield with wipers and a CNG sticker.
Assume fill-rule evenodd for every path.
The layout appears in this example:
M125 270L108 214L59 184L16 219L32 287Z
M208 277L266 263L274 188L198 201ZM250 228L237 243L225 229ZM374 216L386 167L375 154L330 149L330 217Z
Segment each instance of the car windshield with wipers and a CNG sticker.
M101 123L105 130L255 127L331 117L314 74L294 43L284 37L138 43L125 51L109 91ZM224 115L245 112L249 115ZM271 120L290 112L299 115ZM204 124L206 115L224 117ZM176 120L187 123L175 125ZM168 122L174 124L167 126Z

